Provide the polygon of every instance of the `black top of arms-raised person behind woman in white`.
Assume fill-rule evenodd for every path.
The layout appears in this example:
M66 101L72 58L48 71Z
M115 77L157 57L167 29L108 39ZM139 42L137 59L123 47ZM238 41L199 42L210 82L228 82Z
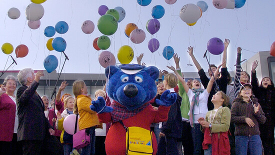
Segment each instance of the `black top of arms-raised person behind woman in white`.
M223 67L221 68L221 77L220 78L217 78L216 79L216 83L217 83L217 86L218 88L223 91L224 93L226 93L226 87L227 87L227 68L226 67ZM199 75L199 78L201 80L201 83L202 85L204 86L204 89L206 89L207 85L208 85L208 82L209 82L209 78L206 76L204 70L201 68L200 70L198 70L198 75ZM212 110L214 108L214 104L211 102L211 99L212 99L212 96L213 94L216 93L216 90L215 88L217 87L215 82L213 83L213 86L211 88L211 91L209 93L209 96L208 96L208 100L207 100L207 108L208 110Z

